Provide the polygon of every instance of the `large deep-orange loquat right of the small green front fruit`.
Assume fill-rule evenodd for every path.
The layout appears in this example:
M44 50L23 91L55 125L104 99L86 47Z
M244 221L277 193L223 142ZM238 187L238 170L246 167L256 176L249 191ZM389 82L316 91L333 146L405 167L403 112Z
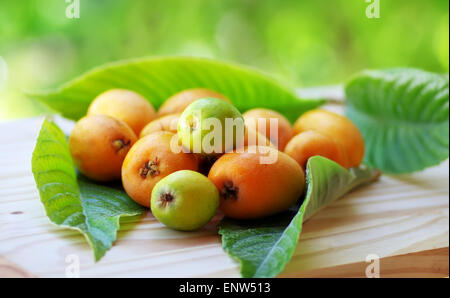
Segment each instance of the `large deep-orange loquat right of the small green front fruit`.
M269 154L273 163L261 163ZM219 189L220 210L235 219L254 219L286 210L303 194L305 175L298 163L271 147L250 146L221 156L208 178Z

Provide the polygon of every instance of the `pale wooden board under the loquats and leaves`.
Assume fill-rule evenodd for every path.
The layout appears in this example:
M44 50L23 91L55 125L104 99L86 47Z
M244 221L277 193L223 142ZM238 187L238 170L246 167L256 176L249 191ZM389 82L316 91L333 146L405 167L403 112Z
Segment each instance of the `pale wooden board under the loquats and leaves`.
M94 263L77 232L52 225L31 174L42 119L0 123L0 277L238 277L215 224L197 232L166 229L151 214L126 219L118 240ZM68 129L70 124L62 123ZM381 277L443 277L449 272L449 164L382 176L305 223L283 277L364 277L368 255Z

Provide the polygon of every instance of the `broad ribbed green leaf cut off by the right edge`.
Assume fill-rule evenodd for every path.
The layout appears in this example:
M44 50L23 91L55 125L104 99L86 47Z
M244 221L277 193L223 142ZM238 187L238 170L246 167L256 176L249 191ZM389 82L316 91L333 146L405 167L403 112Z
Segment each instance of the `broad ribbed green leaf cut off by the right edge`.
M448 158L448 75L402 68L364 71L345 92L346 114L365 139L366 164L410 173Z

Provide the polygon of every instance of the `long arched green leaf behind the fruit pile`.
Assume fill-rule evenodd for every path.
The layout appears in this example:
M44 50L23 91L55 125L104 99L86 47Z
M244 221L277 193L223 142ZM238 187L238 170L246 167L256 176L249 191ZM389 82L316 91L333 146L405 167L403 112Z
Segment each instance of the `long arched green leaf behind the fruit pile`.
M86 114L90 102L111 88L125 88L146 97L155 108L188 88L209 88L232 100L238 109L275 109L292 121L323 100L300 100L291 90L259 71L201 58L148 58L108 64L45 92L30 93L70 119Z

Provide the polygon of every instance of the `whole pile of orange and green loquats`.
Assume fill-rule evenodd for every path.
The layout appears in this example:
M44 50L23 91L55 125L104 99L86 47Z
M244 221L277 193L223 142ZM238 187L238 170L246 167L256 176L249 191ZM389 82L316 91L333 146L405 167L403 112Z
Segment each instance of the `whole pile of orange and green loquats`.
M221 140L207 140L211 129L199 123L208 119L242 122L243 133L232 129L231 142L225 131ZM199 142L214 150L196 148ZM311 110L292 126L268 109L241 114L208 89L179 92L158 112L136 92L108 90L76 123L69 146L82 174L98 182L121 179L134 201L166 226L185 231L204 226L218 209L235 219L286 210L304 193L312 156L347 169L364 157L362 135L344 116ZM262 163L268 155L276 158Z

